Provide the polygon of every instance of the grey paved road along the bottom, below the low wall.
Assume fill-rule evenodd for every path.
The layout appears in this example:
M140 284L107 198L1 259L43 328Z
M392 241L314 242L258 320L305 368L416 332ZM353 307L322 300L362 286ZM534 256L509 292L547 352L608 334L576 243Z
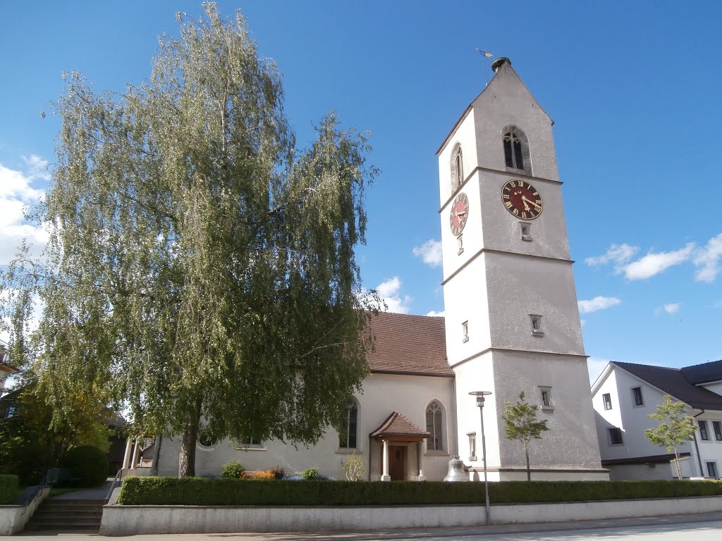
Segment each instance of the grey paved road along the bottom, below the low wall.
M609 519L490 527L429 528L375 532L167 534L102 537L89 534L21 533L3 541L720 541L722 513L671 515L648 519Z

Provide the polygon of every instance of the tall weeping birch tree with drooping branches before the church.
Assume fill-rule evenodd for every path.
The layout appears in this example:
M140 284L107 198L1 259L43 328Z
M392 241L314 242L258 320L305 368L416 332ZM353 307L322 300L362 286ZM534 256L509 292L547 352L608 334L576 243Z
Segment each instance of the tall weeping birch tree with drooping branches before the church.
M181 476L199 431L317 441L373 346L355 263L365 136L331 113L297 150L245 19L204 9L179 15L181 38L161 38L151 78L123 95L67 76L38 214L40 378L58 402L100 386L136 426L178 437Z

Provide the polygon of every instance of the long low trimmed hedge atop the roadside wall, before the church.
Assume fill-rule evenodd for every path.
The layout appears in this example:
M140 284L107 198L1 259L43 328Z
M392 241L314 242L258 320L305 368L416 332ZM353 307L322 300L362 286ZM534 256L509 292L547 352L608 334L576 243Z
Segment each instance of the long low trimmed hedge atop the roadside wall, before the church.
M491 503L722 496L720 481L505 481ZM484 503L484 483L287 481L173 477L123 480L118 503L197 506L363 506Z

